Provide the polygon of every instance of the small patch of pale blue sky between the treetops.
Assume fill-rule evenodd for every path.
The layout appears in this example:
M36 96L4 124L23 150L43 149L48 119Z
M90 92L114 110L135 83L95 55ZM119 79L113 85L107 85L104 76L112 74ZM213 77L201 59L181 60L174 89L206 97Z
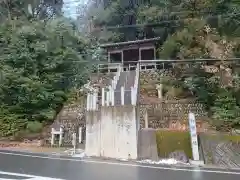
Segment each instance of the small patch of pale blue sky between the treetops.
M66 17L77 18L77 7L88 0L63 0L63 12Z

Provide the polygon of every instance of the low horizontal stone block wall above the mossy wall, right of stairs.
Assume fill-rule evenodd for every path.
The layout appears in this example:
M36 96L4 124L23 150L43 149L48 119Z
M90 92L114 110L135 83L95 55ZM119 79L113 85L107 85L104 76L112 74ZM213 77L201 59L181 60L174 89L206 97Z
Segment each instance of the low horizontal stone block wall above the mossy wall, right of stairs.
M162 100L157 104L141 104L141 127L145 123L144 114L146 111L150 128L187 130L188 113L191 111L196 115L198 130L205 131L207 129L207 114L203 106L194 100Z

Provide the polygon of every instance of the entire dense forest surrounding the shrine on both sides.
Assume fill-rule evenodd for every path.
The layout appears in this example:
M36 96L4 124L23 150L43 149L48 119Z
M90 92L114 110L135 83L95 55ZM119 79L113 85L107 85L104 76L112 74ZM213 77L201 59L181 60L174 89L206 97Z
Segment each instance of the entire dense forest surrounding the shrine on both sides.
M159 58L240 58L239 0L95 0L79 6L77 20L62 7L62 0L0 2L0 137L51 123L104 60L100 43L161 37ZM222 86L196 63L173 85L191 89L219 127L237 127L239 72L232 77Z

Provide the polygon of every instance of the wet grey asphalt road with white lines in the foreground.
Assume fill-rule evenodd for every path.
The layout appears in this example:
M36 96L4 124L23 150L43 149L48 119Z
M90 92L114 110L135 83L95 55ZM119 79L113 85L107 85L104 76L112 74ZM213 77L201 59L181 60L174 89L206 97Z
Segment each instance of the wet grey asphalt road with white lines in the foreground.
M47 180L47 177L63 180L239 180L240 170L81 160L0 151L0 179Z

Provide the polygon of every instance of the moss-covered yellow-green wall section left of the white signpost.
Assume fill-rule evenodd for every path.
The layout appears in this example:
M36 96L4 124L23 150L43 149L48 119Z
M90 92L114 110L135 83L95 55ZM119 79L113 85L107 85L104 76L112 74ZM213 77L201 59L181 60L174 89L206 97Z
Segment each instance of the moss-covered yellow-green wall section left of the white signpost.
M156 138L159 157L166 158L174 151L184 151L188 158L192 157L189 132L158 130Z

